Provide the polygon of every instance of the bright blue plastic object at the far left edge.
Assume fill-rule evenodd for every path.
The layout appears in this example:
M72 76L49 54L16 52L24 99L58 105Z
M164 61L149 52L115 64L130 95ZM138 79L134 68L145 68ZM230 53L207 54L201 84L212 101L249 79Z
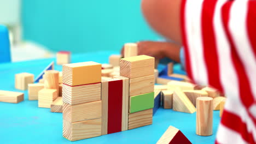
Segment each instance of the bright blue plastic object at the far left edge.
M0 25L0 63L10 62L10 41L8 28Z

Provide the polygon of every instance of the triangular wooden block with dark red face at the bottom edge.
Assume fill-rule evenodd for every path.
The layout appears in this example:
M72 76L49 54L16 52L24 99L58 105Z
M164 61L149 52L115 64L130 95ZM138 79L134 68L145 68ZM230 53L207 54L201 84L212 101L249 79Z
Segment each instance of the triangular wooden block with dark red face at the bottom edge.
M181 130L170 126L161 136L156 144L190 144L188 138L181 132Z

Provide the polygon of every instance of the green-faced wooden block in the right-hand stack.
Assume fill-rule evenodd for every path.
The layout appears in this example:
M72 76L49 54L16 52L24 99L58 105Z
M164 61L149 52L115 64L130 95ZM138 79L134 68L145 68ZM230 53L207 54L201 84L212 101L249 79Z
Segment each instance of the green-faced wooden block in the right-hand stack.
M130 97L130 113L152 109L154 107L154 92Z

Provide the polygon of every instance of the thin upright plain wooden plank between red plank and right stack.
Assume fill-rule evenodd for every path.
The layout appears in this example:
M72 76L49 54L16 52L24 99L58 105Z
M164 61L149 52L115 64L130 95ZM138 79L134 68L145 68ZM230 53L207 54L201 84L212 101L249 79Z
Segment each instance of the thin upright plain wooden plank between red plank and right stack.
M122 131L125 131L128 129L130 79L124 76L114 76L114 78L123 80Z

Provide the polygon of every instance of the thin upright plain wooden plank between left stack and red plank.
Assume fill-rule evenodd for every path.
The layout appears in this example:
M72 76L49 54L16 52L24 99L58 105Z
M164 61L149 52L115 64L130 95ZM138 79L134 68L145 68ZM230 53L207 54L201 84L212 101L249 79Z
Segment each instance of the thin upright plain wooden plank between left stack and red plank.
M108 79L101 79L101 120L102 120L102 131L101 135L108 134Z

